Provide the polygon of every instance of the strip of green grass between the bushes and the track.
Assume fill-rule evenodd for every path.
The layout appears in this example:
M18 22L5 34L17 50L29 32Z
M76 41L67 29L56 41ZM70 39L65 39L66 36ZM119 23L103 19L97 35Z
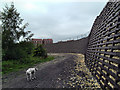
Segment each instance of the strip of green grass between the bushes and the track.
M53 60L54 57L48 56L47 58L32 57L20 60L8 60L2 62L2 74L8 74L10 72L16 72L24 68L34 66L35 64L47 62Z

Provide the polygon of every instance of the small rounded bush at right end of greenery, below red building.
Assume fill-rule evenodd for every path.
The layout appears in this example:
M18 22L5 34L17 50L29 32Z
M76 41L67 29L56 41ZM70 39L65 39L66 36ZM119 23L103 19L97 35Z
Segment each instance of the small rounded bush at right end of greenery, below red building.
M34 49L33 56L46 58L47 52L42 45L39 45Z

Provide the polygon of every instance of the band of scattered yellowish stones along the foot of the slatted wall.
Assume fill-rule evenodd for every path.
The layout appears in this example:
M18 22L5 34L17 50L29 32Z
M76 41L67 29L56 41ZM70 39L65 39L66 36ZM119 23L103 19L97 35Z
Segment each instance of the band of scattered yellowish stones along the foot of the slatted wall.
M97 83L97 80L92 76L89 69L84 62L84 55L77 54L77 58L74 59L76 63L74 69L71 70L71 77L67 82L69 88L101 88Z

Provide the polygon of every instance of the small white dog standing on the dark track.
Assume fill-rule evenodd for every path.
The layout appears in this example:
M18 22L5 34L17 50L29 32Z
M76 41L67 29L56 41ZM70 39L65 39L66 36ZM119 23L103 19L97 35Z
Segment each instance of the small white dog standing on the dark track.
M38 68L29 68L27 71L26 71L26 76L27 76L27 80L31 80L32 79L35 79L35 72L38 70Z

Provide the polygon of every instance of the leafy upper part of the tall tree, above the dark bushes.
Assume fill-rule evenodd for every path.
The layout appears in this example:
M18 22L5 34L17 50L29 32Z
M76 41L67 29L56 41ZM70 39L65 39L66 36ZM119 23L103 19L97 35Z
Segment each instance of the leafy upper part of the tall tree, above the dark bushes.
M21 38L23 41L29 41L33 36L31 31L25 32L28 23L25 25L22 24L23 19L21 19L20 13L17 12L13 3L11 3L10 7L6 5L3 8L3 12L0 13L0 19L2 20L3 49L8 49L14 43L20 42Z

